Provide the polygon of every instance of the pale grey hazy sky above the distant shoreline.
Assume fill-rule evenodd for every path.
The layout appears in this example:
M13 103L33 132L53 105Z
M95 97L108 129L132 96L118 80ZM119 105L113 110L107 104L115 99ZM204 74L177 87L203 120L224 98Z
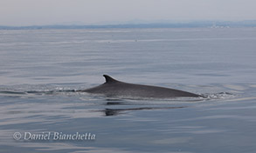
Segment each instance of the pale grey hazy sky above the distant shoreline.
M0 25L255 19L256 0L0 0Z

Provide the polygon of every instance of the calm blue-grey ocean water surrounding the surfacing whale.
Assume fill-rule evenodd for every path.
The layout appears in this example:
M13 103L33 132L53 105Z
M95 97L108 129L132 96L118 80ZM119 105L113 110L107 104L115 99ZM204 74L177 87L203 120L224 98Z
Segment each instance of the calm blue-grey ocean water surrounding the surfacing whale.
M255 28L0 30L0 152L253 153L255 59ZM103 74L207 98L73 92Z

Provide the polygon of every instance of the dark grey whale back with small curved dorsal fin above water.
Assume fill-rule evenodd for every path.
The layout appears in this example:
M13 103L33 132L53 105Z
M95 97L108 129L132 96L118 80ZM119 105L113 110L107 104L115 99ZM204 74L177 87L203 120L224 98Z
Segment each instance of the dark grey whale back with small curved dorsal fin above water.
M79 90L92 94L103 94L106 96L124 96L124 97L141 97L141 98L174 98L174 97L203 97L197 94L186 92L183 90L173 90L169 88L123 83L112 77L103 75L106 83L87 90Z

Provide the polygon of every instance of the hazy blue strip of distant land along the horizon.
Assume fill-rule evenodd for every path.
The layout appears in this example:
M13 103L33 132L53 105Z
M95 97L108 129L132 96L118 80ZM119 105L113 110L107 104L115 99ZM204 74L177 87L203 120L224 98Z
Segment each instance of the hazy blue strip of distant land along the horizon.
M165 26L174 28L209 27L209 26L256 26L256 20L195 20L195 21L173 21L173 22L152 22L152 23L106 23L106 24L77 24L77 23L52 23L41 25L0 25L0 29L26 29L26 28L144 28L144 27Z

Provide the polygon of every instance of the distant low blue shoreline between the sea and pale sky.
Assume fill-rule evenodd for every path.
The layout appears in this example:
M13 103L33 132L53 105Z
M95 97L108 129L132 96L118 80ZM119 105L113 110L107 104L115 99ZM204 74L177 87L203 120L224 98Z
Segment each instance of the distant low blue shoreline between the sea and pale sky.
M195 21L181 23L123 23L106 25L31 25L1 26L0 30L40 30L40 29L128 29L128 28L242 28L256 27L256 20L248 21Z

